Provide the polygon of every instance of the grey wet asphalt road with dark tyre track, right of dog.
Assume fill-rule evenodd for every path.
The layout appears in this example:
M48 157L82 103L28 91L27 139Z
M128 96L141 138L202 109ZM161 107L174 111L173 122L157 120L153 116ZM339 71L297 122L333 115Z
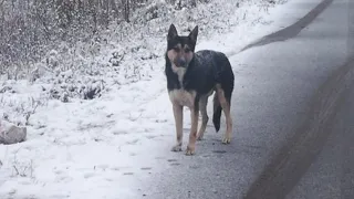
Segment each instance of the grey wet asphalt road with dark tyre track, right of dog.
M230 57L239 69L232 143L209 126L197 155L174 156L144 198L354 198L351 9L324 0Z

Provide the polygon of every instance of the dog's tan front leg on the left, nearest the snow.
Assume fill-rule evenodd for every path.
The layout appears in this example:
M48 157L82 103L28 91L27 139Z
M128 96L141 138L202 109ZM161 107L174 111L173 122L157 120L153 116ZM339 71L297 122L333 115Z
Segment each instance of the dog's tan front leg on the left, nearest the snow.
M181 151L181 143L183 143L183 122L184 122L184 113L183 106L179 104L174 104L174 116L175 116L175 125L176 125L176 135L177 143L173 147L173 151Z

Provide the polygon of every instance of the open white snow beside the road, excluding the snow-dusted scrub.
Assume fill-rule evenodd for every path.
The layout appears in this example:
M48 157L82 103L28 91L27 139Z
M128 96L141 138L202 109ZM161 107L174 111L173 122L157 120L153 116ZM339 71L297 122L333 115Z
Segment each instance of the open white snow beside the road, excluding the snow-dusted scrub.
M278 29L266 30L274 18L258 6L241 7L229 17L235 24L229 33L215 32L214 36L201 39L197 49L232 53ZM277 13L273 11L281 7L269 11ZM247 20L240 20L246 12ZM157 50L164 50L164 39L162 35L155 41ZM154 69L149 78L121 86L113 84L117 76L104 74L105 81L112 82L110 90L91 101L48 100L48 94L42 92L44 81L10 82L17 93L2 93L1 107L8 106L8 112L37 109L28 121L27 142L0 145L1 198L139 198L136 185L148 178L149 172L167 166L162 159L168 157L175 137L162 71L164 60L152 59L144 66ZM233 67L237 72L238 66ZM63 78L73 75L62 74ZM185 117L185 124L188 123Z

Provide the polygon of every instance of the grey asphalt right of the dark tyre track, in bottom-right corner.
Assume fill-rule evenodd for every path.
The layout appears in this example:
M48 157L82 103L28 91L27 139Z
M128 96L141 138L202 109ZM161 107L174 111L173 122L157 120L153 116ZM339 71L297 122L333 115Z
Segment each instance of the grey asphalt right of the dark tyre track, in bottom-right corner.
M322 150L287 199L353 199L353 133L354 86L352 85L341 100Z

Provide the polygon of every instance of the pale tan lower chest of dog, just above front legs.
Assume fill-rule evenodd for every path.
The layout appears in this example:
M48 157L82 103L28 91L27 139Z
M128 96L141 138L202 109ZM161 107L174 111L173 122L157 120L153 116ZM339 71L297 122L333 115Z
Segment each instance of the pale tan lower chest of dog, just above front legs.
M192 107L195 104L196 92L186 90L173 90L169 93L169 100L173 104Z

